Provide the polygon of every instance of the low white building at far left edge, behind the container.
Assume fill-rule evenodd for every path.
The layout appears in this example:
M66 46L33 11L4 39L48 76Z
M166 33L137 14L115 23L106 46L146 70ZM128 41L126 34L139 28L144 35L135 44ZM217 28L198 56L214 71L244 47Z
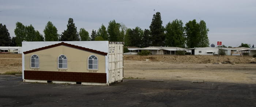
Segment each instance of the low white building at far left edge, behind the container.
M22 47L19 47L19 46L0 46L0 52L22 53Z

